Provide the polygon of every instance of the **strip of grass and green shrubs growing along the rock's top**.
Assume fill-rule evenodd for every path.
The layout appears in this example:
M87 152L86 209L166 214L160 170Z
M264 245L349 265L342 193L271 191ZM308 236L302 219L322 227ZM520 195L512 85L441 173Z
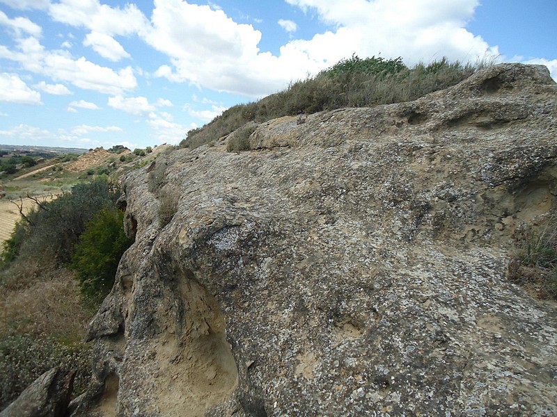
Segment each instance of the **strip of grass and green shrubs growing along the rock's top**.
M402 58L352 56L317 76L296 81L274 95L224 111L212 122L191 130L180 147L194 149L240 128L248 122L262 123L276 117L311 114L342 107L371 107L411 101L469 77L473 65L451 63L446 58L429 65L407 67ZM242 144L230 150L242 148Z

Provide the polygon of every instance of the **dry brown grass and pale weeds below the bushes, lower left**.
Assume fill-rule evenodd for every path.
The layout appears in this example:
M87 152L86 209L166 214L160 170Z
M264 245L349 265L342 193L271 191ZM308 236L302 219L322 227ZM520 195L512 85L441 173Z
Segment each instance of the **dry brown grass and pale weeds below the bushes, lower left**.
M91 346L81 342L93 316L74 274L45 259L0 272L0 409L54 366L77 370L74 395L91 378Z

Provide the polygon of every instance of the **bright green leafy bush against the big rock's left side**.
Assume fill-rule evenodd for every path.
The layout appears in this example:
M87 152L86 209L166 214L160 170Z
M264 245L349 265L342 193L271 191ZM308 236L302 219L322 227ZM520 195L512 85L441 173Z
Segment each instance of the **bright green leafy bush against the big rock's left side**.
M99 302L110 292L120 258L133 243L125 235L123 221L123 211L105 206L79 236L70 267L77 272L87 300Z

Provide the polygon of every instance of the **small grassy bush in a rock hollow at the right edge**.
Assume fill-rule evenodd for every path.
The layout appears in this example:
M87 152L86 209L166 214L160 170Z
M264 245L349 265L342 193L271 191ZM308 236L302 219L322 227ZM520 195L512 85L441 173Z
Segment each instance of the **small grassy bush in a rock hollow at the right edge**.
M557 214L517 234L508 278L540 298L557 300Z

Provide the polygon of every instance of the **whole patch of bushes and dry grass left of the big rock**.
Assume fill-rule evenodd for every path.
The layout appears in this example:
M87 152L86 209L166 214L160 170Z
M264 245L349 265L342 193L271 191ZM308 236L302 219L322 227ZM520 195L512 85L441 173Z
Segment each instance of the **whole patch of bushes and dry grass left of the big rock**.
M52 366L90 377L86 322L113 285L132 243L106 177L39 202L17 223L0 256L0 409ZM81 293L81 295L80 295ZM17 377L15 376L17 375Z

